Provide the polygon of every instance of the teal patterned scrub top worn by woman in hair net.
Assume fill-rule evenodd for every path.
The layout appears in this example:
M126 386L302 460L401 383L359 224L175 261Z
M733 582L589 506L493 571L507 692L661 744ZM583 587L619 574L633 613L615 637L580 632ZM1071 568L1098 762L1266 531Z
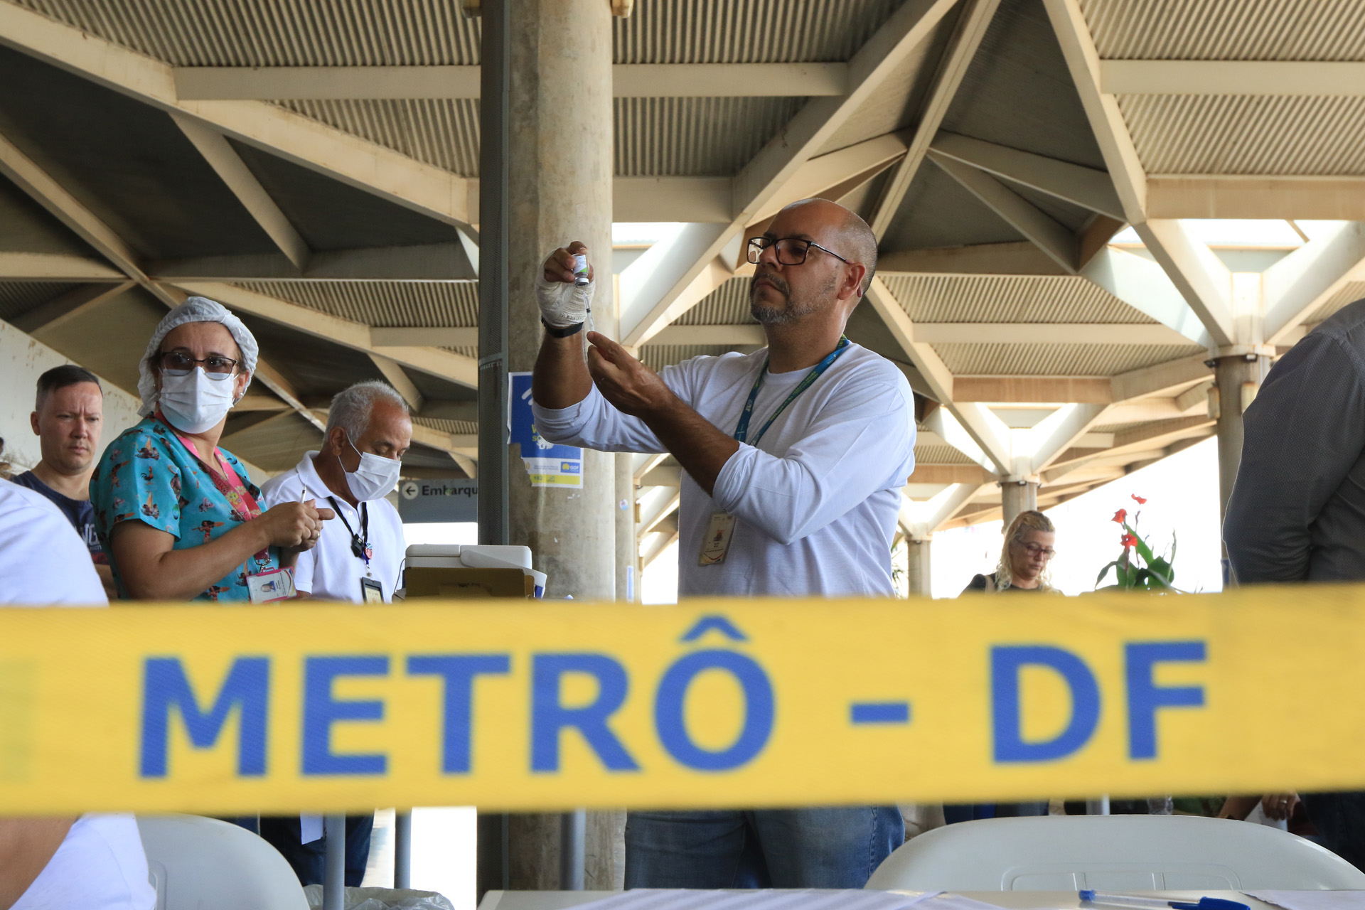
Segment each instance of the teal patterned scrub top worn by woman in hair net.
M232 469L242 478L261 509L261 490L253 486L246 468L220 449ZM94 505L94 527L109 554L109 568L119 596L127 598L127 588L119 574L119 561L109 546L113 527L120 521L138 520L175 538L176 550L188 550L207 543L247 518L218 491L209 471L190 454L175 434L156 417L124 430L111 442L90 478L90 502ZM195 600L232 600L250 603L247 573L268 572L280 566L280 553L274 547L247 557L247 561L225 578L210 587Z

